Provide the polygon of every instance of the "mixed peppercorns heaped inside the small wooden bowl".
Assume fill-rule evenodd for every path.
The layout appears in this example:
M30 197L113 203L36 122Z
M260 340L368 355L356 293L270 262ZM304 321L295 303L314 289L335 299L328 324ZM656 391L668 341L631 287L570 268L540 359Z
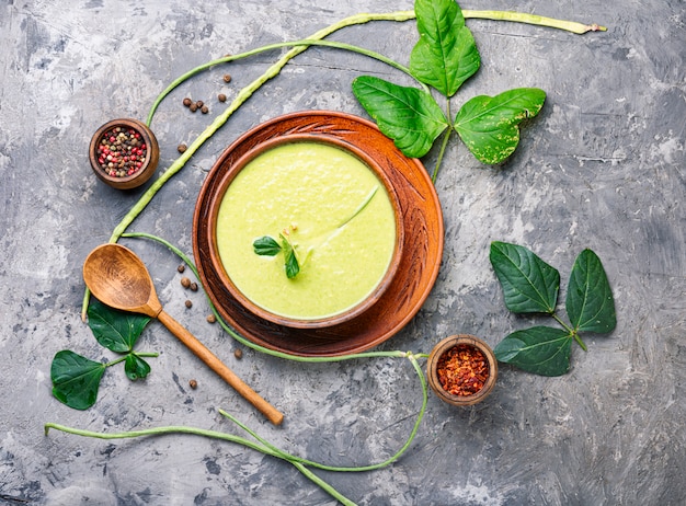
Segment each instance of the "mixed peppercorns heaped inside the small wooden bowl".
M98 163L112 177L134 174L147 156L148 147L135 128L113 127L103 134L98 146Z

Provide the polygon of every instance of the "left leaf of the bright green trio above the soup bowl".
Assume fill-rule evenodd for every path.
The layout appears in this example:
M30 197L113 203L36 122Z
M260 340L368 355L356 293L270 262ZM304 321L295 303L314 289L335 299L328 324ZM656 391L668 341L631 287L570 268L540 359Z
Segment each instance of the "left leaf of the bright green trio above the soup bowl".
M426 154L448 127L434 97L423 90L361 76L353 81L353 93L381 133L393 139L407 157Z

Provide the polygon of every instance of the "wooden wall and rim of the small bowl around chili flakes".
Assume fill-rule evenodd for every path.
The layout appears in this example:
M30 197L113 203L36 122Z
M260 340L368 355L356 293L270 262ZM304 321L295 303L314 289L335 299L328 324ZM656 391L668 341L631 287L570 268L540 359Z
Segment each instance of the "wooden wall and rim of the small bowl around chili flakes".
M443 354L458 345L467 345L478 348L481 353L483 353L489 364L489 376L483 383L483 387L472 395L454 395L448 393L444 390L438 379L437 369L439 358ZM491 347L479 337L467 334L451 335L450 337L446 337L439 342L434 349L432 349L428 356L428 361L426 363L426 376L428 378L431 389L438 396L438 399L455 406L469 406L483 401L488 394L491 393L491 390L493 390L495 380L498 379L498 360L495 359L495 355L493 354Z

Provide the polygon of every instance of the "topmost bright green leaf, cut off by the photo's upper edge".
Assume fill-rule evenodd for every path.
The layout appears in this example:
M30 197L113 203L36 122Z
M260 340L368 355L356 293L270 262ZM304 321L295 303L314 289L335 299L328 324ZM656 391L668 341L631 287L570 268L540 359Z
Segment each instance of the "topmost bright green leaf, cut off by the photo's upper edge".
M418 0L414 12L420 39L410 55L410 71L450 97L479 70L475 37L455 0Z

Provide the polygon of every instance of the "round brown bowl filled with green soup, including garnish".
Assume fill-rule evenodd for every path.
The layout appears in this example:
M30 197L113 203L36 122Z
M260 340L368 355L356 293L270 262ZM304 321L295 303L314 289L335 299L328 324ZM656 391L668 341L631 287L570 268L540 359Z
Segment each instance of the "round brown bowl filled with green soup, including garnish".
M279 325L358 317L402 255L392 184L374 159L335 138L296 134L258 145L231 164L209 207L214 269L243 308Z

